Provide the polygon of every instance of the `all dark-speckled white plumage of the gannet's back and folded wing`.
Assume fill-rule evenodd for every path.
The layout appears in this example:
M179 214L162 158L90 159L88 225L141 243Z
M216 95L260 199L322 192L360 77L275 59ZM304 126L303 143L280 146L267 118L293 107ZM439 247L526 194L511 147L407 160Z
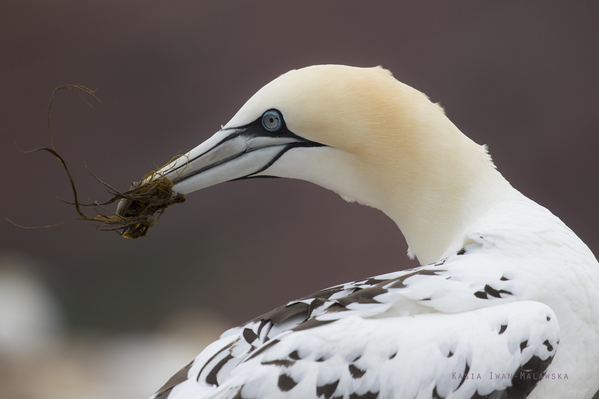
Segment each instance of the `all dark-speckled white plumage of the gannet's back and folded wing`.
M525 398L559 327L503 240L471 234L435 264L291 301L226 331L153 399Z

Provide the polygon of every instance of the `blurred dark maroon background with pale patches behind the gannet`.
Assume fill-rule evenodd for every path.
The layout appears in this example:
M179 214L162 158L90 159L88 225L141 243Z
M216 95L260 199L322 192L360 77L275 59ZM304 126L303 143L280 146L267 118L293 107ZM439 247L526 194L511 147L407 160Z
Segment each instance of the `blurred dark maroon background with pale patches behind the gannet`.
M303 181L210 187L145 239L71 221L225 124L289 69L382 65L441 102L506 178L597 254L599 2L0 3L2 398L156 391L229 327L289 300L417 266L394 223Z

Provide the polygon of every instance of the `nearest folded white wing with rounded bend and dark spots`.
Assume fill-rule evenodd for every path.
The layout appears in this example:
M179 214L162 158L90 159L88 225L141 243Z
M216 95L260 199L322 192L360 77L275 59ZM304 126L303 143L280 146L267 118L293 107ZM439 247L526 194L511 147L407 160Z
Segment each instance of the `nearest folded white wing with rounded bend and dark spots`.
M158 397L525 398L555 355L559 327L546 305L517 301L461 313L351 315L283 331L241 356L247 344L232 337Z

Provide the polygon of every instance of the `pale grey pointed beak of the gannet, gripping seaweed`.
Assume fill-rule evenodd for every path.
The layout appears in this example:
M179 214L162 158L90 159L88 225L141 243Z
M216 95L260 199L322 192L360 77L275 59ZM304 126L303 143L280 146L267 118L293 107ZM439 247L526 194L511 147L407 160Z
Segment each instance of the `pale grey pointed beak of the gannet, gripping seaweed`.
M264 176L286 151L318 144L287 131L257 132L251 126L219 130L207 141L161 169L175 193L188 194L225 181Z

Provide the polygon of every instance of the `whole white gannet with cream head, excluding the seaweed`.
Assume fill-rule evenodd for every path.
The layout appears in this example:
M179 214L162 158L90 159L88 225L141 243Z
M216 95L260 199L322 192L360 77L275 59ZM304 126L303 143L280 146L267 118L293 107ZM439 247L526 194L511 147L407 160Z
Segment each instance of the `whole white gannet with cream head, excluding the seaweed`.
M589 248L383 68L290 71L162 172L181 194L314 182L385 212L423 266L232 328L153 399L583 399L599 388Z

